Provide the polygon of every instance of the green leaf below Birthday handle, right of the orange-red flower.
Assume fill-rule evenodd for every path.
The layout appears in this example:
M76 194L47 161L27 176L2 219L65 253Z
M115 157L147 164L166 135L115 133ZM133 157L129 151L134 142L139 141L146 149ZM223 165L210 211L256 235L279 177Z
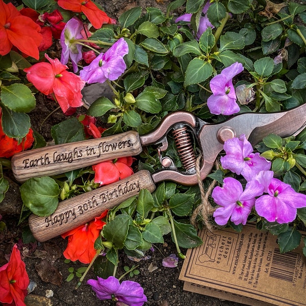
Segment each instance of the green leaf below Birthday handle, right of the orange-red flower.
M123 248L132 218L128 215L117 215L103 227L103 236L116 248Z

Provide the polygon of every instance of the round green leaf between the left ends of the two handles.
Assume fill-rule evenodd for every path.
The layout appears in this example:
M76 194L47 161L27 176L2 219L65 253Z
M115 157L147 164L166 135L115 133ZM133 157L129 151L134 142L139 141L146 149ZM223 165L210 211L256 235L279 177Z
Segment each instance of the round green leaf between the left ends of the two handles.
M45 217L53 214L57 209L60 194L59 185L49 176L32 178L20 186L21 199L25 207L34 214ZM53 216L54 222L59 216Z

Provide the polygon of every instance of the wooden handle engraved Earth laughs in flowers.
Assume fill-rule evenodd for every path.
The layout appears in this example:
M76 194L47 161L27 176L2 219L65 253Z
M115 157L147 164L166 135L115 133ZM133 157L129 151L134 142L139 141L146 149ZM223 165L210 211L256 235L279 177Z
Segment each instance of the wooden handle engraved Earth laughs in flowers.
M12 157L12 170L17 181L31 177L52 176L119 157L138 155L142 151L135 131L64 143L20 152Z

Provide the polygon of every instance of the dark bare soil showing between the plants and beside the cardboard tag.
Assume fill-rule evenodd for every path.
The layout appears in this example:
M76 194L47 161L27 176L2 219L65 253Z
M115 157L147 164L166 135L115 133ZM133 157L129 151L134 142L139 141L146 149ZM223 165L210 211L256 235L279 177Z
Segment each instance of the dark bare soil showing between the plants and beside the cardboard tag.
M108 0L97 1L105 9L110 17L118 18L124 11L135 6L143 9L146 7L157 7L165 11L168 0ZM55 48L48 52L50 57L58 52ZM50 128L69 117L63 115L61 110L55 111L46 120L45 118L57 108L52 100L48 100L43 95L36 95L37 107L32 111L32 127L38 131L47 141L52 140ZM86 108L81 108L79 113L86 113ZM43 122L45 120L45 122ZM96 298L95 293L91 290L86 281L94 278L95 275L91 270L80 288L74 289L78 283L78 277L67 282L66 278L70 274L68 268L78 269L85 266L80 262L66 264L64 262L63 251L66 247L66 240L61 237L51 239L44 243L34 242L29 244L22 243L22 232L26 231L27 221L17 226L19 213L22 205L17 183L10 170L5 171L5 176L10 181L10 189L6 193L5 200L0 204L0 214L2 220L6 223L4 231L0 232L0 266L7 263L9 254L14 243L18 243L21 248L22 258L25 262L31 284L34 286L25 302L27 306L31 305L115 305L113 301L100 301ZM6 209L7 208L7 209ZM183 290L184 283L179 280L183 260L180 259L179 266L176 268L165 268L162 266L163 257L176 253L174 243L170 236L165 237L164 244L157 244L155 252L149 252L149 259L135 263L129 260L122 252L120 254L120 263L117 275L124 273L123 266L132 266L139 264L140 274L135 275L132 279L140 283L147 296L145 305L152 306L239 306L243 305L236 302L230 302L213 298L197 293L191 293ZM186 253L186 250L183 250ZM258 303L260 305L261 302Z

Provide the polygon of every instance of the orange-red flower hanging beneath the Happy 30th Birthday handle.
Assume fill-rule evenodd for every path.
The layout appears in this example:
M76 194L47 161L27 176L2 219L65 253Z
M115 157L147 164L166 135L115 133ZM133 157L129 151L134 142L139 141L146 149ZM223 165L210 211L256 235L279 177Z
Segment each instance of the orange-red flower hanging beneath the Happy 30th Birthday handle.
M79 260L83 264L89 264L95 256L96 249L94 242L100 234L101 228L106 224L101 219L107 216L108 211L104 211L93 221L80 225L62 235L68 237L68 244L64 251L64 256L71 261Z

